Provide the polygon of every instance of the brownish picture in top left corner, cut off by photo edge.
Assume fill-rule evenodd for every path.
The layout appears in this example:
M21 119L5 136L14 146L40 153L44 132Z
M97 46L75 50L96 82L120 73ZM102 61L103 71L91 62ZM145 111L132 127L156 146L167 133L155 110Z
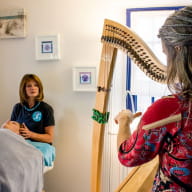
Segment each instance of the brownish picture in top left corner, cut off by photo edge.
M26 12L22 9L0 10L0 39L26 36Z

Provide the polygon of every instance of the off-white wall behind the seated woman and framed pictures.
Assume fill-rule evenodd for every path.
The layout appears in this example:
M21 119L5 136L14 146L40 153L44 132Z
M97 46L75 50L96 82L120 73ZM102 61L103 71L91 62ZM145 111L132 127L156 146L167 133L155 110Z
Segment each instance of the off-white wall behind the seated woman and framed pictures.
M46 192L89 192L94 93L72 91L72 67L99 65L104 18L125 23L130 7L189 5L190 0L1 0L3 8L26 8L28 35L0 40L0 123L18 102L25 73L43 81L45 100L55 109L57 150L54 170L45 176ZM62 59L35 60L35 36L61 34Z

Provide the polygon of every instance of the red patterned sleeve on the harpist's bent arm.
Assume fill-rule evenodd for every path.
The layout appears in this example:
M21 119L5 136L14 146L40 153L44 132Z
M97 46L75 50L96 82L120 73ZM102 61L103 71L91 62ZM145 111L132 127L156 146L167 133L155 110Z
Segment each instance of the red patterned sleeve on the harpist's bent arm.
M162 140L174 123L151 130L143 130L142 127L177 113L179 102L176 97L162 98L152 104L141 118L138 130L121 144L118 153L120 162L132 167L153 159L159 153Z

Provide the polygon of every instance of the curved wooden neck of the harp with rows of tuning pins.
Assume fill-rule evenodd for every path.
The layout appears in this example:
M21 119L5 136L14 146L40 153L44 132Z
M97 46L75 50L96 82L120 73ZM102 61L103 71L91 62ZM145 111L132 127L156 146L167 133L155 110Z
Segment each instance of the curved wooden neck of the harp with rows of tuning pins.
M149 78L160 83L166 83L166 66L129 27L106 19L101 40L103 43L109 43L111 46L126 52Z

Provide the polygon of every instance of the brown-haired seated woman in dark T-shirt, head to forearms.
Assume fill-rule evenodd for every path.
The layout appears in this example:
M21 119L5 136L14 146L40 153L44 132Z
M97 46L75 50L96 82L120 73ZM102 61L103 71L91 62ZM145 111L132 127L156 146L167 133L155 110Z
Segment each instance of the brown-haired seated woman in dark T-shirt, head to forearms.
M20 102L12 111L11 120L22 124L20 135L32 141L53 142L55 120L53 108L43 101L43 85L35 74L26 74L20 82Z

